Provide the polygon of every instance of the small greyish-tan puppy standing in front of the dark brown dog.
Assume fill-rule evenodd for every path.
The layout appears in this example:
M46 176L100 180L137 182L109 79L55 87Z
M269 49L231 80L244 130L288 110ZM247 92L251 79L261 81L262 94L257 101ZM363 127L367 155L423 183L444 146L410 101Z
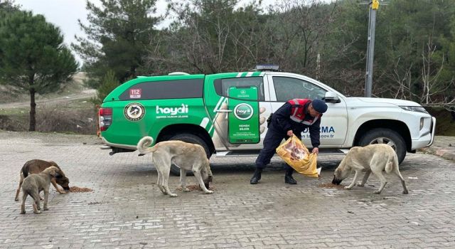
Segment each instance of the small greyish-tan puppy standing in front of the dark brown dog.
M40 192L44 191L43 210L48 210L50 180L60 176L60 169L50 166L38 174L31 174L23 179L21 214L26 213L26 198L33 198L33 213L41 213Z

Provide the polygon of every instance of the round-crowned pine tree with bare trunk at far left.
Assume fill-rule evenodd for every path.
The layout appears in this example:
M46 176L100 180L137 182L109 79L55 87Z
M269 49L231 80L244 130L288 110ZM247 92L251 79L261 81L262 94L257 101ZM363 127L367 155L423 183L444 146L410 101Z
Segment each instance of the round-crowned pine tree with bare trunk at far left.
M77 71L58 27L44 16L15 11L0 21L0 77L30 94L30 131L36 129L36 93L53 92Z

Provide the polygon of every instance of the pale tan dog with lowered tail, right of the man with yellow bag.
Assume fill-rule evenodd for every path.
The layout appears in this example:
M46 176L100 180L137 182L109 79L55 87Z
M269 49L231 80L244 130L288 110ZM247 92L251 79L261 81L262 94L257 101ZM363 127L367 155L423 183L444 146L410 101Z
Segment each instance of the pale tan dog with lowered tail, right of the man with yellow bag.
M382 171L385 171L387 174L393 172L400 178L403 194L407 194L405 179L403 179L398 169L397 154L387 144L370 144L365 147L351 148L333 173L332 184L339 185L341 181L349 176L351 171L355 171L355 176L353 182L346 186L345 189L352 189L360 175L360 171L366 171L363 180L358 183L358 186L363 186L368 176L373 172L379 177L381 182L381 186L375 191L375 194L380 194L385 184L387 184L387 179L382 175Z

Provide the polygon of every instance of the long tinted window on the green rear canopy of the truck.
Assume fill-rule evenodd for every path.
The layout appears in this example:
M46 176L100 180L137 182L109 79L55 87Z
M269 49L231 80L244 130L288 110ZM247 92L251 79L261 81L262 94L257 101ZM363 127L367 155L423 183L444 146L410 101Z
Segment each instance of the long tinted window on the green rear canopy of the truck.
M202 97L203 79L149 81L132 85L119 100L166 100Z

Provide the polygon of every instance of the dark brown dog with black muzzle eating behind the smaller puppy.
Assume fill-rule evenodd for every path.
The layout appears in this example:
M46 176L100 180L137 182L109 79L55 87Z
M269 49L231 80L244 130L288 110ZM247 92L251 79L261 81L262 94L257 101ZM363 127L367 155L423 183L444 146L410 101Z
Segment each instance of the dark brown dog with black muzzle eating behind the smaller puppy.
M21 172L19 173L21 179L19 180L19 187L16 191L16 197L14 198L14 201L19 200L19 191L21 191L21 186L24 178L26 178L29 174L38 174L50 166L55 166L57 169L60 170L59 176L54 177L53 179L50 180L50 183L52 183L55 190L57 190L58 193L60 194L65 194L66 193L65 191L69 191L70 187L68 186L68 184L70 184L70 180L65 176L63 171L57 164L55 164L54 161L43 161L39 159L34 159L27 161L26 164L23 164L22 166ZM65 191L61 191L60 189L58 189L57 184L62 186Z

